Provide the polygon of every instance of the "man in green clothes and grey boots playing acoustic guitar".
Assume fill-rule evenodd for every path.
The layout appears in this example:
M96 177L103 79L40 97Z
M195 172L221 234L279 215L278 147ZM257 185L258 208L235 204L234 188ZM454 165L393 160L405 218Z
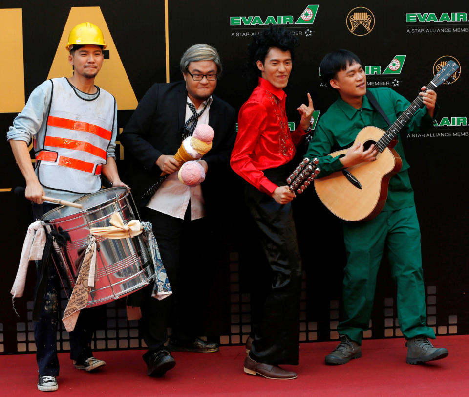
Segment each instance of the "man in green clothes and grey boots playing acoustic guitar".
M337 89L340 95L318 121L306 153L306 157L320 160L321 177L374 161L378 153L374 145L365 149L360 142L354 144L354 140L366 126L386 130L388 125L364 96L365 71L355 54L346 50L327 54L321 61L320 72L324 82ZM391 123L410 105L390 88L371 88L370 91ZM425 106L407 124L409 132L426 131L433 123L436 93L427 90L420 95ZM350 149L345 156L327 155L347 147ZM343 280L343 319L338 326L341 343L326 356L326 364L344 364L362 356L362 335L368 329L376 276L385 246L392 278L397 284L398 321L407 339L407 363L420 364L448 355L447 349L436 349L427 339L435 339L435 333L426 325L420 227L402 143L399 141L394 149L402 158L402 168L389 181L381 213L370 221L343 222L347 265Z

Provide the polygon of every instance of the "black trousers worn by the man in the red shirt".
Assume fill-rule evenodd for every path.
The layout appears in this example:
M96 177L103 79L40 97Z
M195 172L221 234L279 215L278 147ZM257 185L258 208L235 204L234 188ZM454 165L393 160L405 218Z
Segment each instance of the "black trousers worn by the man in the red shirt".
M288 171L282 166L264 175L281 186ZM291 203L278 204L252 185L246 186L245 201L271 269L265 277L272 277L249 354L266 364L298 364L301 258Z

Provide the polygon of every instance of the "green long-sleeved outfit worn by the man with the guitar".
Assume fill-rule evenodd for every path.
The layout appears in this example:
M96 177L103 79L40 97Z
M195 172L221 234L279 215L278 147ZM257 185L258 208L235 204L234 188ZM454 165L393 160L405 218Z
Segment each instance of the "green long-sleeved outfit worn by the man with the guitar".
M390 88L369 89L391 122L410 105ZM425 132L433 121L426 107L407 123L408 132ZM375 126L387 130L383 117L363 97L362 108L355 109L341 98L334 102L318 121L306 157L318 157L321 176L343 168L339 157L327 154L350 147L360 130ZM371 221L343 221L347 264L343 279L343 319L338 331L362 343L368 329L376 287L376 277L384 247L388 249L391 274L397 285L398 321L405 338L417 335L435 338L426 325L425 287L423 281L420 226L415 211L414 194L408 176L402 142L394 147L402 158L401 171L389 181L389 191L382 212Z

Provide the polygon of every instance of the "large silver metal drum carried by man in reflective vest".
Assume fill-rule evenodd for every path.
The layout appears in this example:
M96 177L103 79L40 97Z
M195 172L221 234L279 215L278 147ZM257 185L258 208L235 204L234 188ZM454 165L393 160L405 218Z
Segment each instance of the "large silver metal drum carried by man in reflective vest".
M60 265L73 288L86 249L91 227L109 226L109 218L119 213L124 223L135 219L129 202L130 191L113 187L83 196L76 203L83 209L61 206L43 215L48 233L55 230L67 240L55 245ZM124 239L96 236L95 286L88 295L86 307L102 305L145 287L154 278L154 267L145 233Z

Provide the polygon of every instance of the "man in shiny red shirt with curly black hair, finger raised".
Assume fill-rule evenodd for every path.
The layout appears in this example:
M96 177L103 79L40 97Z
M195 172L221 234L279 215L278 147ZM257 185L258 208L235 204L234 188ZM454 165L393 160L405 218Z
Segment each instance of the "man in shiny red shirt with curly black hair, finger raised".
M289 164L295 146L311 130L314 110L308 93L308 105L297 109L299 126L290 132L283 88L292 71L297 41L287 28L271 26L249 45L248 65L257 87L239 111L231 154L231 167L249 182L245 200L274 276L244 372L269 379L297 377L278 366L298 364L301 259L290 203L295 194L285 180L295 168Z

